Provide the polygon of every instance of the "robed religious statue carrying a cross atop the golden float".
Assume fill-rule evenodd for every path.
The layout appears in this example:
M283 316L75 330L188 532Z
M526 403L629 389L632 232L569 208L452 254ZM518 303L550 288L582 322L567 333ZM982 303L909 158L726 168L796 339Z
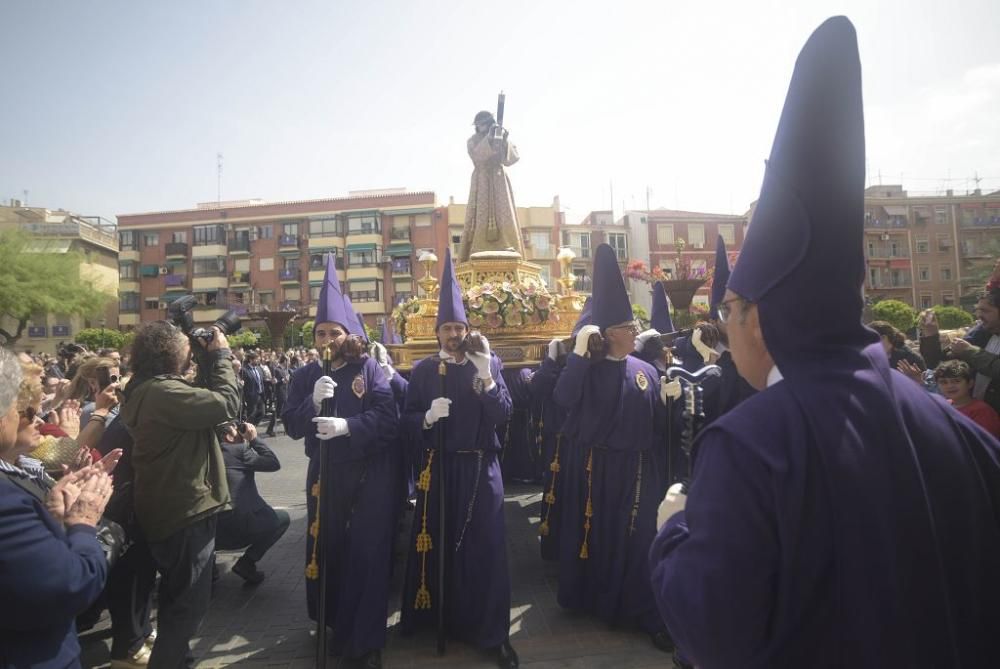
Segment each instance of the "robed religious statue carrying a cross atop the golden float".
M476 134L467 142L475 169L465 210L459 262L467 262L472 254L484 252L524 256L514 193L504 170L518 161L518 155L503 127L503 99L501 93L496 118L488 111L476 114Z

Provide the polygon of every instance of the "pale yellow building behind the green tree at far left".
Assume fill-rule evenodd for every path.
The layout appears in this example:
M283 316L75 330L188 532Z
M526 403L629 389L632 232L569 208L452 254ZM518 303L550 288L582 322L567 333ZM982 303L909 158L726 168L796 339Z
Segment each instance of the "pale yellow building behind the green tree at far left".
M32 236L29 253L78 253L80 281L89 283L112 298L118 294L118 235L115 224L98 216L81 216L62 209L0 206L0 227L19 228ZM39 313L29 319L15 348L32 353L55 353L60 342L71 342L84 328L118 329L118 303L89 317L58 313ZM16 323L4 318L8 332Z

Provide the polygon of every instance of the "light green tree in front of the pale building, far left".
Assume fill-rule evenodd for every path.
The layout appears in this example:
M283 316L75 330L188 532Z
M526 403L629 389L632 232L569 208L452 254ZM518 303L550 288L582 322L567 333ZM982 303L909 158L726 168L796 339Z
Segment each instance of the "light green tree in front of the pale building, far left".
M81 281L83 256L76 252L36 253L32 238L16 229L0 231L0 316L17 325L0 328L8 344L24 333L34 314L97 314L114 296Z

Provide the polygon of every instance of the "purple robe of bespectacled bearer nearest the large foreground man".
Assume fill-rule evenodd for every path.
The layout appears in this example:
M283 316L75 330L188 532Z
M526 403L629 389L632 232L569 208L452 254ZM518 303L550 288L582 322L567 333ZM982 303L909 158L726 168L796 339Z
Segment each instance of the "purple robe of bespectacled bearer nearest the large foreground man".
M663 489L654 457L666 421L658 380L634 356L591 363L572 353L553 391L569 411L560 449L559 604L650 634L663 629L648 561Z

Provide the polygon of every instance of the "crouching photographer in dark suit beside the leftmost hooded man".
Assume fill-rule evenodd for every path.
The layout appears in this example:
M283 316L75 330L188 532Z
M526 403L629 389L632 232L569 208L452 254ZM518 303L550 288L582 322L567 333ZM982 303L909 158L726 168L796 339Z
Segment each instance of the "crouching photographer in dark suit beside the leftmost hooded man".
M257 439L257 428L249 423L237 432L228 424L222 436L222 457L226 462L226 480L233 496L233 510L219 516L215 535L216 550L246 548L233 565L233 572L251 585L264 580L257 563L271 546L278 543L291 521L286 511L273 509L257 491L254 472L281 469L274 451Z

